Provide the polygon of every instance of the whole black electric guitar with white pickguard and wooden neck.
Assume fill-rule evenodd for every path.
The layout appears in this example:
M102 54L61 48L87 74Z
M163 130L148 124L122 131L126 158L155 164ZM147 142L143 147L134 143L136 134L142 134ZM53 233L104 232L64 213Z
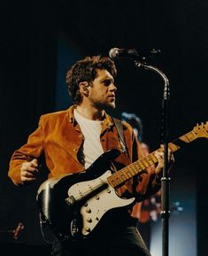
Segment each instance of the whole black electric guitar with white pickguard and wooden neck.
M208 138L208 121L197 124L189 133L169 143L168 148L172 152L178 151L199 137ZM106 151L85 172L53 177L42 183L36 197L41 221L50 226L57 237L86 238L104 213L135 201L135 198L120 198L116 189L156 164L155 151L113 173L110 163L118 156L117 150Z

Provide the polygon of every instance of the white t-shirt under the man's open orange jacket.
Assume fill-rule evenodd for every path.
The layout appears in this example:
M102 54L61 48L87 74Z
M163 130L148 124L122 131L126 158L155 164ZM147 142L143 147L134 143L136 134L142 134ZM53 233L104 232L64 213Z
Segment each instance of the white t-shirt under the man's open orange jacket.
M85 168L87 169L101 154L104 153L100 143L100 133L102 129L102 121L89 120L83 117L79 112L74 110L75 120L81 127L84 136L83 155Z

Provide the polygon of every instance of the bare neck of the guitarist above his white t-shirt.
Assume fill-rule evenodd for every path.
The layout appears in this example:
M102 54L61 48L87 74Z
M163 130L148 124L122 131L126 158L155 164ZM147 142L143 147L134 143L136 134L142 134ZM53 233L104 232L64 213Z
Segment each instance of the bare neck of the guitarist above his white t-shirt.
M77 105L77 112L89 120L103 120L104 110L98 110L95 107L86 107L84 105Z

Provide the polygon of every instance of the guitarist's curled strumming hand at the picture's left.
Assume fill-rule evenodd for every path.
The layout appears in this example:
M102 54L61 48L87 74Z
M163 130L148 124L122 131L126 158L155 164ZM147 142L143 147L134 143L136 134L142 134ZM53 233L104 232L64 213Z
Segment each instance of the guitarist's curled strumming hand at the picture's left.
M20 179L23 183L35 181L35 177L38 173L38 161L33 159L31 162L25 162L20 169Z

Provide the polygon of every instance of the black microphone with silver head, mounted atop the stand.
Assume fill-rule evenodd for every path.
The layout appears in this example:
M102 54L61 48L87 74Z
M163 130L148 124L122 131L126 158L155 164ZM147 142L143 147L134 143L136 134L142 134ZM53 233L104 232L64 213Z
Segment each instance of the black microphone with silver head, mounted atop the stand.
M160 53L160 50L136 50L136 49L119 49L119 48L112 48L109 50L109 57L112 59L116 58L133 58L137 59L144 59L149 58L153 55Z

